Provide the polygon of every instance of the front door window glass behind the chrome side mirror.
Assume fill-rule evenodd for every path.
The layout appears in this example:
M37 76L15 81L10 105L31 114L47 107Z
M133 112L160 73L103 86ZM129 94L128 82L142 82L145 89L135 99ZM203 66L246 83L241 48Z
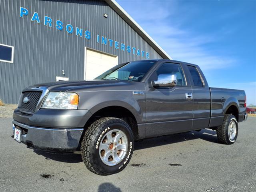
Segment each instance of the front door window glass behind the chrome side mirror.
M158 70L156 70L152 76L150 77L150 81L158 80L158 76L160 74L176 74L177 76L177 84L176 86L186 86L186 81L184 78L184 74L180 64L175 63L164 63L162 64Z

